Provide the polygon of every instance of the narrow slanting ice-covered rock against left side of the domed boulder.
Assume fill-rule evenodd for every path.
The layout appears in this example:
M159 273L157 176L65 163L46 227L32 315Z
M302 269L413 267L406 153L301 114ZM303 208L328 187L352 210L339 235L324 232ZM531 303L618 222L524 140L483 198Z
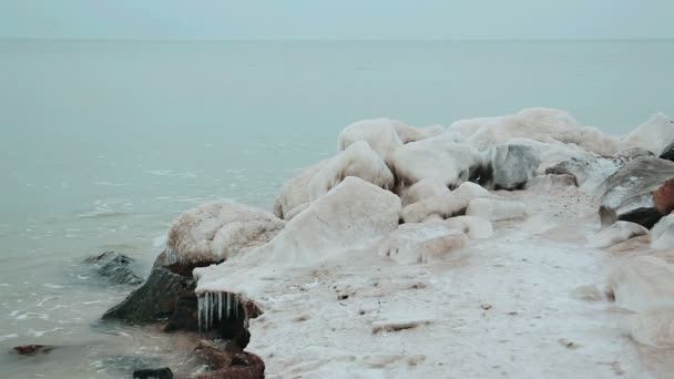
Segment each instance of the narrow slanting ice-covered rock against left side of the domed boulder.
M288 215L296 215L306 208L312 201L309 183L330 160L320 161L305 168L298 176L287 181L280 188L274 204L274 214L278 218L290 219ZM302 207L302 208L298 208Z

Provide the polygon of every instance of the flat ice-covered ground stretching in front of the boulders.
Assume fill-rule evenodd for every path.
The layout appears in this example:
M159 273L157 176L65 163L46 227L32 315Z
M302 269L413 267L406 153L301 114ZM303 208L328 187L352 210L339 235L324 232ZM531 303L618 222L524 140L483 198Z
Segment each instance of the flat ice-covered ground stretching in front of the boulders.
M500 192L530 217L496 224L468 254L399 265L354 250L289 270L229 270L256 301L247 350L269 378L667 378L674 351L637 346L602 289L649 237L584 247L599 204L575 187ZM661 253L667 255L667 252Z

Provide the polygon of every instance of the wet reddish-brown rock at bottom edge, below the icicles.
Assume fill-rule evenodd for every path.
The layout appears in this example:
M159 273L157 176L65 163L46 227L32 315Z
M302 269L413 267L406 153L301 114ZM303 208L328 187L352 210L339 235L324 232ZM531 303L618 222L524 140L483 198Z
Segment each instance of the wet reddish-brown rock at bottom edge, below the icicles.
M265 365L262 359L254 354L239 350L232 344L202 340L195 349L195 355L212 370L197 378L264 378Z

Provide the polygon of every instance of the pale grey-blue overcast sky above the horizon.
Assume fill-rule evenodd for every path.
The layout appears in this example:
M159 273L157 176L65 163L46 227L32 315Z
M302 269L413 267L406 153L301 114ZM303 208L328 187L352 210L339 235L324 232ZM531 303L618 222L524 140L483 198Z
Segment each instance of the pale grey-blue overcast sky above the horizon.
M674 0L0 0L0 38L674 38Z

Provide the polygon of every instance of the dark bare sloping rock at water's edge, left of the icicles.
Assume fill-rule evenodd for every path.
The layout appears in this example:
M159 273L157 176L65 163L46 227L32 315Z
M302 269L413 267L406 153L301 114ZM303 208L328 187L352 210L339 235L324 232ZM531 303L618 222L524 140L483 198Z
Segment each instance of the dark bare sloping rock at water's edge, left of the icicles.
M187 279L166 267L155 267L147 280L121 304L109 309L103 319L131 324L165 320L175 310L177 297L187 288Z

